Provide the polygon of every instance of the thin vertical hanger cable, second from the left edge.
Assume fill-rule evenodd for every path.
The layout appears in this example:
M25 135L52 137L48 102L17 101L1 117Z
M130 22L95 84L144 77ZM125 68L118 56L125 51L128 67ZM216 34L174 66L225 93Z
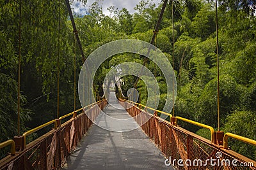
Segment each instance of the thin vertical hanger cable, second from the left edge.
M58 60L57 60L57 118L60 117L60 3L59 0L59 27L58 27Z

